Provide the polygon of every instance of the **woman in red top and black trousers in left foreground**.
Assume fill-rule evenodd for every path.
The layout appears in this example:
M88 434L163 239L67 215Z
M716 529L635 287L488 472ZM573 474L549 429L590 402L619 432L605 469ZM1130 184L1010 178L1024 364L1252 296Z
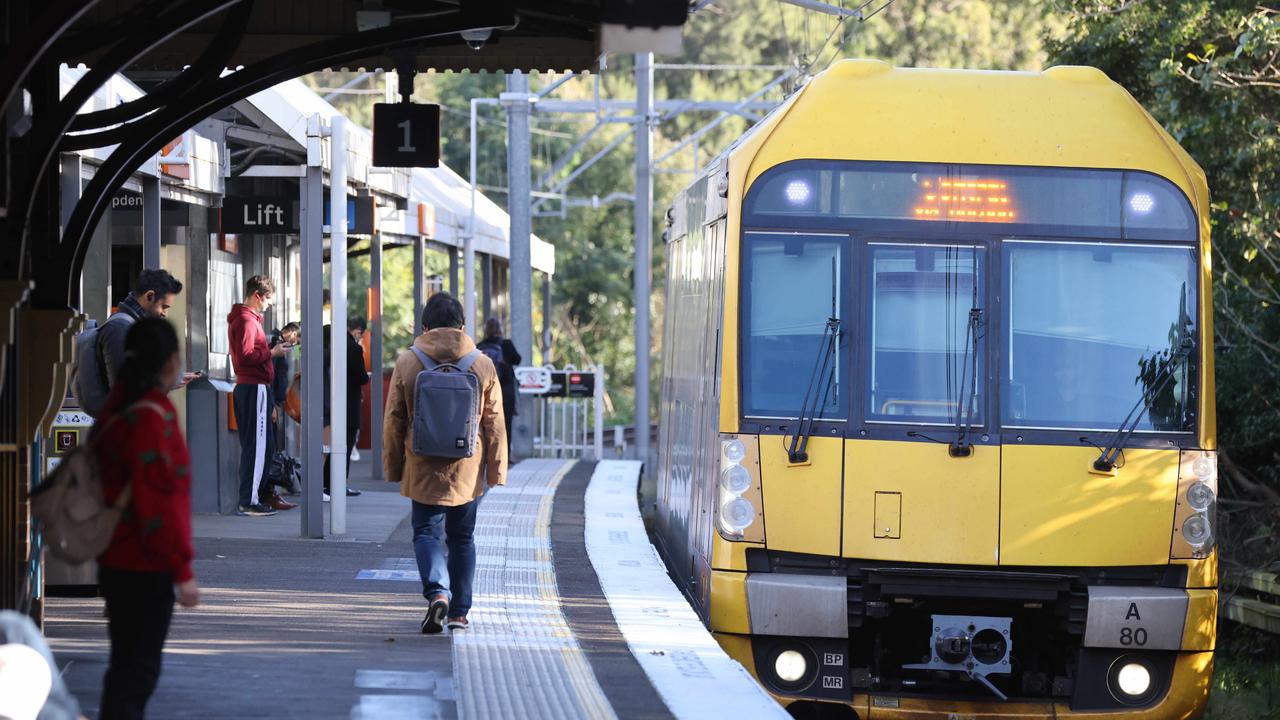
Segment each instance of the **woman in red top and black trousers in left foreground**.
M142 319L124 348L93 429L106 501L132 493L97 559L111 637L100 720L143 716L160 679L174 587L183 607L200 601L191 571L191 457L166 396L182 377L178 334L166 320Z

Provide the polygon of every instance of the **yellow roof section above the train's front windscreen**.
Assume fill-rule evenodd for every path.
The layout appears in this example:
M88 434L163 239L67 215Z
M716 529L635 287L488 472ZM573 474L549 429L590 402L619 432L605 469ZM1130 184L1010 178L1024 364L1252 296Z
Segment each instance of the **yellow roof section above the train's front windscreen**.
M796 159L1144 170L1179 186L1204 217L1204 172L1102 70L895 68L841 60L728 151L746 183Z

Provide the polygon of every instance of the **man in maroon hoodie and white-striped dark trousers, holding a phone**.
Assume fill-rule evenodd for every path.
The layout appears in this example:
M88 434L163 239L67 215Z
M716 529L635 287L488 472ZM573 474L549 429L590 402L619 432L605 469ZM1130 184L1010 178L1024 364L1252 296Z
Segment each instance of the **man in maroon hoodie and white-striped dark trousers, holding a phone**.
M241 437L241 496L238 515L274 515L293 503L262 487L266 462L274 452L271 433L271 360L283 357L293 346L270 347L262 331L262 313L275 301L275 283L266 275L253 275L244 283L244 302L227 315L232 368L236 370L236 424Z

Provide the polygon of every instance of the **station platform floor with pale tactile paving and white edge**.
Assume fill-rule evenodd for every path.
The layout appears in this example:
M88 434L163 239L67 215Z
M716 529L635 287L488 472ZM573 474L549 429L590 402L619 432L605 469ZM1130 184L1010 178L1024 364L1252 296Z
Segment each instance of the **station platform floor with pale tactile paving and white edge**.
M352 464L348 533L197 515L201 606L177 609L152 717L787 717L704 629L645 534L639 462L526 460L481 501L471 628L422 635L398 487ZM46 635L87 717L100 598L51 597Z

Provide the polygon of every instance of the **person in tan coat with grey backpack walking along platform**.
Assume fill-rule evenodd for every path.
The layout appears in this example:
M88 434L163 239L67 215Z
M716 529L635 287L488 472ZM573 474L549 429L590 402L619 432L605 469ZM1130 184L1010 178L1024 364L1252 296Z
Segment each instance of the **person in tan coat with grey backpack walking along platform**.
M507 483L507 433L498 374L463 329L445 293L422 309L422 334L392 373L383 419L388 482L413 501L413 553L428 600L421 632L467 628L475 524L488 488ZM447 538L447 539L445 539ZM449 548L448 562L443 544Z

